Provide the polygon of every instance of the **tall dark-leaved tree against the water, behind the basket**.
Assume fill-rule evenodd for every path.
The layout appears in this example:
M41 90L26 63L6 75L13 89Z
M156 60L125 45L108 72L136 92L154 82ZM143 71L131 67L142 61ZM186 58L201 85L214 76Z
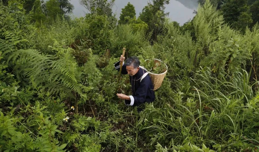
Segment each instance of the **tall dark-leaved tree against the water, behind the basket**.
M148 24L148 32L153 31L153 41L162 32L165 17L169 14L164 12L165 4L169 4L169 0L153 0L153 4L148 3L139 15L139 18Z

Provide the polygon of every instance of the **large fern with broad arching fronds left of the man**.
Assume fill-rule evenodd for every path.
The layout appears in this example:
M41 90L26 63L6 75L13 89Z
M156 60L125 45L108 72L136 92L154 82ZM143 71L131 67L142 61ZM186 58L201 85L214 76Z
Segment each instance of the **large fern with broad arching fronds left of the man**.
M42 86L50 94L63 94L74 99L76 94L84 97L84 92L90 90L90 87L80 83L82 73L70 55L71 49L59 47L56 42L52 48L57 51L57 55L53 56L33 49L17 50L15 44L15 41L0 41L5 61L18 80Z

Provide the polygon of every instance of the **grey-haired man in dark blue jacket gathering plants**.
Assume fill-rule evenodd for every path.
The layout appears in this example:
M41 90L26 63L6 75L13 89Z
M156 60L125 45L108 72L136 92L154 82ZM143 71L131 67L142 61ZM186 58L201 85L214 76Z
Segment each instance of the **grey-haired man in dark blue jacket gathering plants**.
M117 94L118 98L124 99L125 104L131 106L139 106L144 102L153 102L155 92L148 72L139 67L140 61L136 56L129 57L125 64L124 60L125 57L121 55L120 61L123 62L121 73L130 75L132 95ZM118 71L120 70L120 61L114 65Z

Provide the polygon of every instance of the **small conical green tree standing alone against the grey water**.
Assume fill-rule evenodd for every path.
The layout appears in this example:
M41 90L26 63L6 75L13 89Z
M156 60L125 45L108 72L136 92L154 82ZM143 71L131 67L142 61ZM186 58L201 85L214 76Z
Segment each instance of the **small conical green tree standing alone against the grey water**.
M121 9L120 20L118 21L119 24L126 24L130 21L130 19L136 16L135 7L128 2L128 4Z

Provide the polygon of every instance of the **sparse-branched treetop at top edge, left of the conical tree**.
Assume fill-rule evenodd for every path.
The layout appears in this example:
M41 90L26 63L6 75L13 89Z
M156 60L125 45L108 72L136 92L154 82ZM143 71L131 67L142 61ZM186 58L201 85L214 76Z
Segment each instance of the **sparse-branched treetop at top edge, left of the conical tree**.
M115 0L80 0L80 4L84 6L90 13L107 16L112 15L112 7Z

